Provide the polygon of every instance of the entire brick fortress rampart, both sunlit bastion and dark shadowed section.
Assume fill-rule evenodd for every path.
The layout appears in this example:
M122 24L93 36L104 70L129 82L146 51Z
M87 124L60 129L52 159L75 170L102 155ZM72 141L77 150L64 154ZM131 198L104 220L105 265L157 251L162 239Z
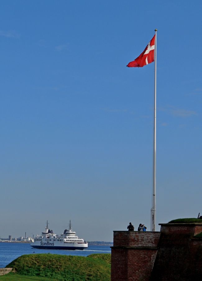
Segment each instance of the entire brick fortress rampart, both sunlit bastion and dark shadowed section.
M111 281L202 280L202 223L163 223L160 232L114 231Z

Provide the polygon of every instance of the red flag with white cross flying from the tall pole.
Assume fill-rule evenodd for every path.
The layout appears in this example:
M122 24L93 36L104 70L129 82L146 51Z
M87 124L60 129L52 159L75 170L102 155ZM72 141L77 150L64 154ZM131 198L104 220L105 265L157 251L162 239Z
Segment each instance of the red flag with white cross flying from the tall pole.
M143 67L144 65L154 62L155 36L151 39L145 50L134 61L129 62L127 67Z

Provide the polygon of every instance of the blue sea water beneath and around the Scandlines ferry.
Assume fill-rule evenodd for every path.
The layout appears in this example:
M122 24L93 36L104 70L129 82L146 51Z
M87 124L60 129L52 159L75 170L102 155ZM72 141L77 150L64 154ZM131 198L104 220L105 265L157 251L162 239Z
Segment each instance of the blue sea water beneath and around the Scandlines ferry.
M0 242L0 268L8 265L12 260L26 254L59 254L72 256L88 256L96 253L111 253L110 246L88 246L86 250L42 250L33 249L29 243Z

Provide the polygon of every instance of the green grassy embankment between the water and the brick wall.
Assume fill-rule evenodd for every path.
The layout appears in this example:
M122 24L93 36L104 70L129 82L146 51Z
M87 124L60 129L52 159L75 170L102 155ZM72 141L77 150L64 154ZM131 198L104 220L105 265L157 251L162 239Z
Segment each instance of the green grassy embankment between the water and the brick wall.
M16 273L0 276L0 280L110 281L111 255L31 254L13 260L6 267L14 267Z

